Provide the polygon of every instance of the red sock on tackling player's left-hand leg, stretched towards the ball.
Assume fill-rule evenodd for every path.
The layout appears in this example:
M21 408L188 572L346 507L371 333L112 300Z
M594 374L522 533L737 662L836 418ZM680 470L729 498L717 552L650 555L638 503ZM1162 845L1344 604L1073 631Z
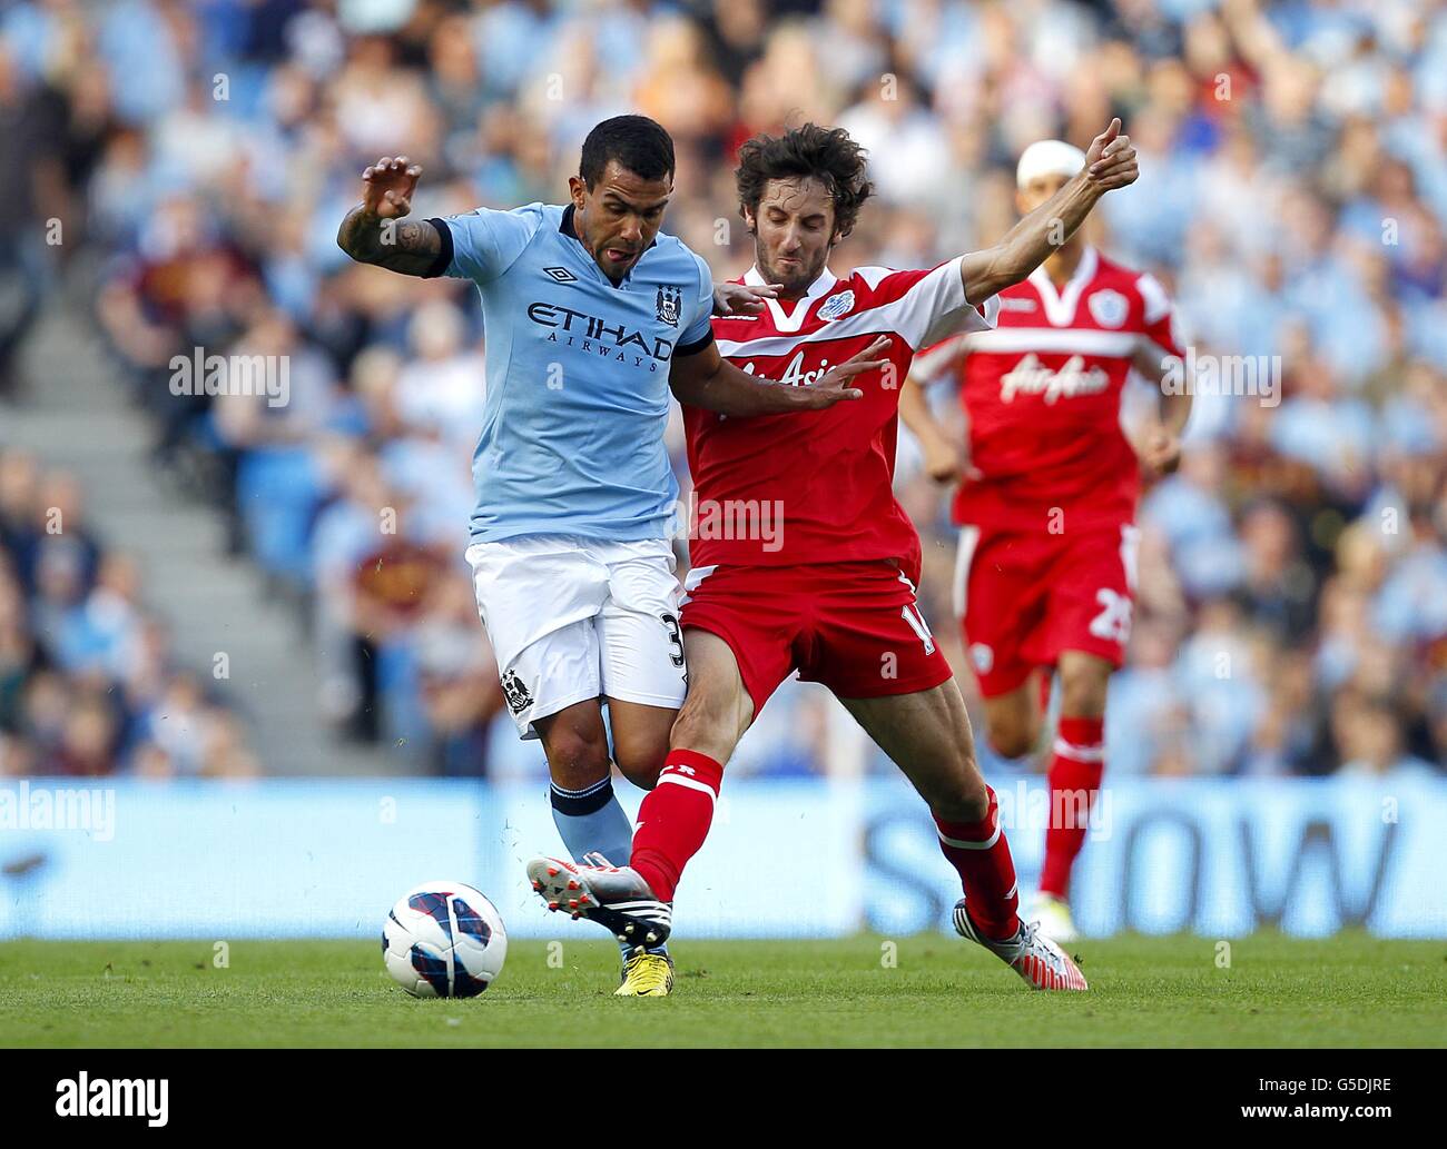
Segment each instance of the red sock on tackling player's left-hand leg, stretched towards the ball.
M683 867L709 835L722 780L724 767L708 754L670 750L658 785L642 799L628 864L661 902L673 900Z

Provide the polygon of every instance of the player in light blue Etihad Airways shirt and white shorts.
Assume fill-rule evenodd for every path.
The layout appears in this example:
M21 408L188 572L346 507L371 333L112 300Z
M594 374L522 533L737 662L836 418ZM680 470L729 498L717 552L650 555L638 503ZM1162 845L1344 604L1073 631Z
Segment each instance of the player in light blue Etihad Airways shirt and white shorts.
M467 561L508 708L543 741L554 821L579 861L627 861L611 765L653 788L687 687L670 392L731 416L820 410L860 397L851 382L884 366L877 341L796 387L722 360L709 267L658 230L673 169L663 127L618 116L583 142L567 205L407 221L421 168L383 158L337 233L362 263L478 285L486 405ZM741 289L721 289L718 305L761 308ZM667 993L666 951L631 950L619 993Z

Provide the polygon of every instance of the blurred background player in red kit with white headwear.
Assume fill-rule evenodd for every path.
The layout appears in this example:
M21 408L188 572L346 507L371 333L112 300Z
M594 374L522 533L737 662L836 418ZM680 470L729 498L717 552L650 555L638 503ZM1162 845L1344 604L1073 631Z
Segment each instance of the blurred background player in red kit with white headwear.
M1049 201L1085 163L1061 140L1027 147L1016 171L1020 211ZM1062 942L1075 937L1071 867L1106 763L1106 688L1130 640L1140 467L1175 470L1191 413L1189 389L1163 395L1137 451L1121 431L1121 389L1132 369L1159 383L1171 357L1184 350L1162 286L1077 233L1001 292L996 330L923 351L900 397L929 473L959 483L955 611L1000 754L1035 749L1049 685L1042 674L1059 671L1033 916ZM968 454L915 386L941 379L958 379Z

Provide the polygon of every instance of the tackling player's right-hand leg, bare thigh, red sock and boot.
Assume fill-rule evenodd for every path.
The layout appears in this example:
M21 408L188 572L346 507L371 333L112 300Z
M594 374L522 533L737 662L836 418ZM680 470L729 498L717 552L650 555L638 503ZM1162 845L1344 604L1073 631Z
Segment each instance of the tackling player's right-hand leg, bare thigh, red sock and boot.
M975 762L969 714L955 679L884 698L841 698L929 805L941 851L959 873L961 935L977 941L1040 990L1084 990L1075 963L1017 915L1014 861L994 792Z

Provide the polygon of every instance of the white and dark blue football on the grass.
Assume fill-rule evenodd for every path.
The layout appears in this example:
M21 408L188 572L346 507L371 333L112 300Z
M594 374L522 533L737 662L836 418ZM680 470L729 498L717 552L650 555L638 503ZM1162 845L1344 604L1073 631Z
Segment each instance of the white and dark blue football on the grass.
M412 997L476 997L506 955L496 906L462 882L424 882L382 924L382 961Z

